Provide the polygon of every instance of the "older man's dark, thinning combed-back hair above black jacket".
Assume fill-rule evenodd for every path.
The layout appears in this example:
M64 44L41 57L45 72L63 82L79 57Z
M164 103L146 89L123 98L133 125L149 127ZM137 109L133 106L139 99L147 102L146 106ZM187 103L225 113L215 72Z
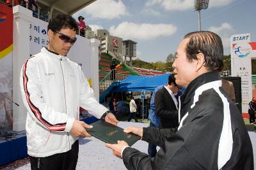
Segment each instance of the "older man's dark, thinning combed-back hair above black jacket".
M189 62L202 53L205 58L205 67L209 71L221 72L223 68L223 45L220 36L210 31L196 31L188 33L184 39L189 38L186 45L186 55Z

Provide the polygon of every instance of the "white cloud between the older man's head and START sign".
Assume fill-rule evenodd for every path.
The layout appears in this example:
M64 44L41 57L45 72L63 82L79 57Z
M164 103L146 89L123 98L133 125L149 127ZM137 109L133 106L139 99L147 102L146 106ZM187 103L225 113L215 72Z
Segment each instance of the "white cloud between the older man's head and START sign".
M230 36L234 33L234 28L227 22L224 22L220 27L210 27L209 31L212 31L221 37L224 53L228 54L230 48Z

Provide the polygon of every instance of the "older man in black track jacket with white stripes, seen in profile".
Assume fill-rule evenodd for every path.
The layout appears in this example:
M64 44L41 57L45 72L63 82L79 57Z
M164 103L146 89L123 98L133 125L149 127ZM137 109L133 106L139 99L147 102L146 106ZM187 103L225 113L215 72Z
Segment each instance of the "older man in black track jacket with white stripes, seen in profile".
M253 169L244 121L221 88L222 57L221 38L215 33L198 31L184 37L173 63L175 82L186 86L179 99L179 127L125 128L161 148L150 158L124 141L106 144L127 169Z

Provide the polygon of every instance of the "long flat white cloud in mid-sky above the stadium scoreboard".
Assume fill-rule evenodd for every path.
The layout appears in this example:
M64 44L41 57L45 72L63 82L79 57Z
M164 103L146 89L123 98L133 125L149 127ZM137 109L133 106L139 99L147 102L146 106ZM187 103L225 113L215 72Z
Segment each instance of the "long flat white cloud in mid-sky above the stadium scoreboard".
M111 35L120 36L123 39L152 40L157 36L170 36L177 31L172 24L135 24L122 22L118 26L111 26Z

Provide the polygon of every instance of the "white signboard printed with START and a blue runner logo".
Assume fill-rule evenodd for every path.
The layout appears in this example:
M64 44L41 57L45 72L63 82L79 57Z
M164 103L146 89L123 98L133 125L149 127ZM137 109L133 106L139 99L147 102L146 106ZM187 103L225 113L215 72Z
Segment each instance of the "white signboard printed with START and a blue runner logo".
M241 77L242 112L248 112L252 100L252 46L250 33L233 35L230 38L231 75Z

